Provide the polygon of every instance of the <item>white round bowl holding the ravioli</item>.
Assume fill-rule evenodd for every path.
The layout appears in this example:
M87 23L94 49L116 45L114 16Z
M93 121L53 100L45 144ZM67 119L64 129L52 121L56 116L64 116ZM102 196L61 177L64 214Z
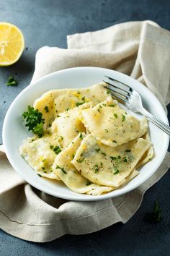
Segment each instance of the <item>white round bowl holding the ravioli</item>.
M155 150L155 158L140 168L140 174L126 184L125 187L104 195L81 195L72 192L64 184L61 184L61 182L40 178L26 161L24 161L21 155L19 155L19 145L22 144L25 138L32 135L27 131L27 128L24 127L22 120L22 113L27 109L27 105L33 105L35 99L48 90L58 88L85 88L100 82L104 75L114 77L137 90L143 99L143 105L146 109L168 124L164 108L161 106L156 96L145 86L140 84L140 82L125 74L98 67L76 67L48 74L32 85L27 86L27 88L19 93L6 113L3 126L3 142L7 158L14 170L33 187L55 197L61 197L67 200L104 200L109 197L117 197L125 194L140 186L140 184L146 182L161 165L169 145L169 136L151 123L149 124L149 129Z

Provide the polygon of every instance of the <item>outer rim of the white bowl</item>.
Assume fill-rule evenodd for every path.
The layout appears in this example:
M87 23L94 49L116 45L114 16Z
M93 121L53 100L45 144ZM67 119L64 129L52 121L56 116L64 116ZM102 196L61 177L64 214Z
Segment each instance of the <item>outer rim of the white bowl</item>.
M6 147L6 126L8 125L8 119L9 119L10 112L12 110L13 105L17 102L18 98L22 97L22 94L27 92L27 90L30 90L30 87L34 87L34 86L36 86L37 83L40 83L42 81L49 80L49 77L53 77L53 76L55 76L56 74L59 74L59 73L67 72L68 70L71 71L72 69L82 69L82 70L84 70L84 69L105 69L105 68L102 68L102 67L73 67L73 68L68 68L68 69L62 69L62 70L55 71L55 72L52 72L50 74L47 74L44 77L40 77L40 79L36 80L35 82L30 83L30 85L27 85L27 87L24 88L24 90L22 90L19 93L19 95L17 95L16 98L14 98L14 101L12 101L11 106L9 106L9 109L7 110L6 116L4 118L4 124L3 124L3 129L2 129L2 140L3 140L4 150L6 152L6 156L7 156L8 160L9 160L9 162L11 163L12 167L14 168L14 170L17 171L17 173L19 175L21 175L22 178L26 182L28 182L30 185L32 185L32 187L35 187L35 188L37 188L37 189L39 189L39 190L41 190L43 192L46 192L49 195L53 195L55 197L60 197L60 198L66 199L66 200L74 200L74 201L97 201L97 200L105 200L105 199L109 199L109 198L112 198L112 197L117 197L117 196L120 196L120 195L124 195L124 194L132 191L133 189L139 187L144 182L146 182L146 180L148 180L155 173L155 171L159 168L159 166L161 166L161 163L164 161L164 157L165 157L166 152L167 152L168 147L169 147L169 136L168 135L166 137L167 138L166 139L166 145L164 147L164 151L162 153L162 157L161 157L158 165L155 166L152 171L148 172L148 175L146 176L145 179L143 179L142 182L136 182L135 184L133 184L131 186L131 189L125 189L125 187L124 187L124 191L119 191L118 195L112 195L111 194L112 192L118 191L117 189L112 191L112 192L108 192L108 193L106 193L104 195L84 195L84 194L76 193L78 195L77 198L74 195L67 195L67 196L64 195L63 196L63 194L60 193L60 192L58 192L58 195L56 195L56 192L51 191L50 189L48 189L48 187L42 187L42 186L40 186L40 184L37 185L34 182L32 182L32 181L30 182L30 180L28 181L28 179L25 179L22 171L19 170L16 161L13 161L13 159L10 157L10 150L9 150L9 148ZM127 74L123 74L121 72L117 72L117 71L112 70L112 69L105 69L105 70L107 72L109 70L109 72L113 72L113 74L120 74L120 75L122 75L122 77L127 78L127 80L129 80L129 81L133 80L138 85L140 85L140 87L144 88L144 90L148 91L148 93L150 93L152 95L152 97L154 98L154 100L158 103L159 108L161 108L162 114L164 113L164 116L163 116L164 117L164 121L166 122L166 124L169 124L169 121L168 121L168 118L166 116L166 112L164 110L164 107L161 105L160 101L158 101L158 98L156 98L156 95L154 95L151 92L151 90L149 90L148 88L146 88L145 85L141 84L140 82L138 82L138 80L135 80L133 77L130 77ZM115 193L115 194L117 194L117 193ZM81 198L79 198L79 197L81 197Z

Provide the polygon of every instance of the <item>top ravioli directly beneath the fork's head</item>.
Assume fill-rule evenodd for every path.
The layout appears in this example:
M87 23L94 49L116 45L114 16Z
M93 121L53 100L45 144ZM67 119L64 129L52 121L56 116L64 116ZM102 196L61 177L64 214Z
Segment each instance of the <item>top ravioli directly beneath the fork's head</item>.
M148 129L146 118L139 121L113 99L81 111L81 121L91 135L111 147L141 137Z

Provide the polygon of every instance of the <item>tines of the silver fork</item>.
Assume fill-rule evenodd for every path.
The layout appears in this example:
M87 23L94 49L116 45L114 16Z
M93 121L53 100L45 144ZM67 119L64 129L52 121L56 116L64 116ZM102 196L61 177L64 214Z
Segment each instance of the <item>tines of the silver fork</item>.
M133 88L130 88L130 86L125 85L123 82L115 80L112 77L107 77L106 75L104 76L103 82L105 82L107 85L111 87L108 88L104 86L104 88L110 90L112 95L119 98L121 101L127 102L129 98L131 98Z

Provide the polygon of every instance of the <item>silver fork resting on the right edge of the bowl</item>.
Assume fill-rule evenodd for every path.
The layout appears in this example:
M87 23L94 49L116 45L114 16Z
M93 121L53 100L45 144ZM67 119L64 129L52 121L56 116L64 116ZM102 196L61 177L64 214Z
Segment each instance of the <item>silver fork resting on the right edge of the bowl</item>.
M170 127L143 108L142 99L136 90L118 80L115 80L112 77L104 76L103 82L105 82L111 88L108 88L107 86L104 87L107 88L116 98L124 101L131 111L140 112L146 116L149 121L155 124L156 127L160 128L170 136Z

